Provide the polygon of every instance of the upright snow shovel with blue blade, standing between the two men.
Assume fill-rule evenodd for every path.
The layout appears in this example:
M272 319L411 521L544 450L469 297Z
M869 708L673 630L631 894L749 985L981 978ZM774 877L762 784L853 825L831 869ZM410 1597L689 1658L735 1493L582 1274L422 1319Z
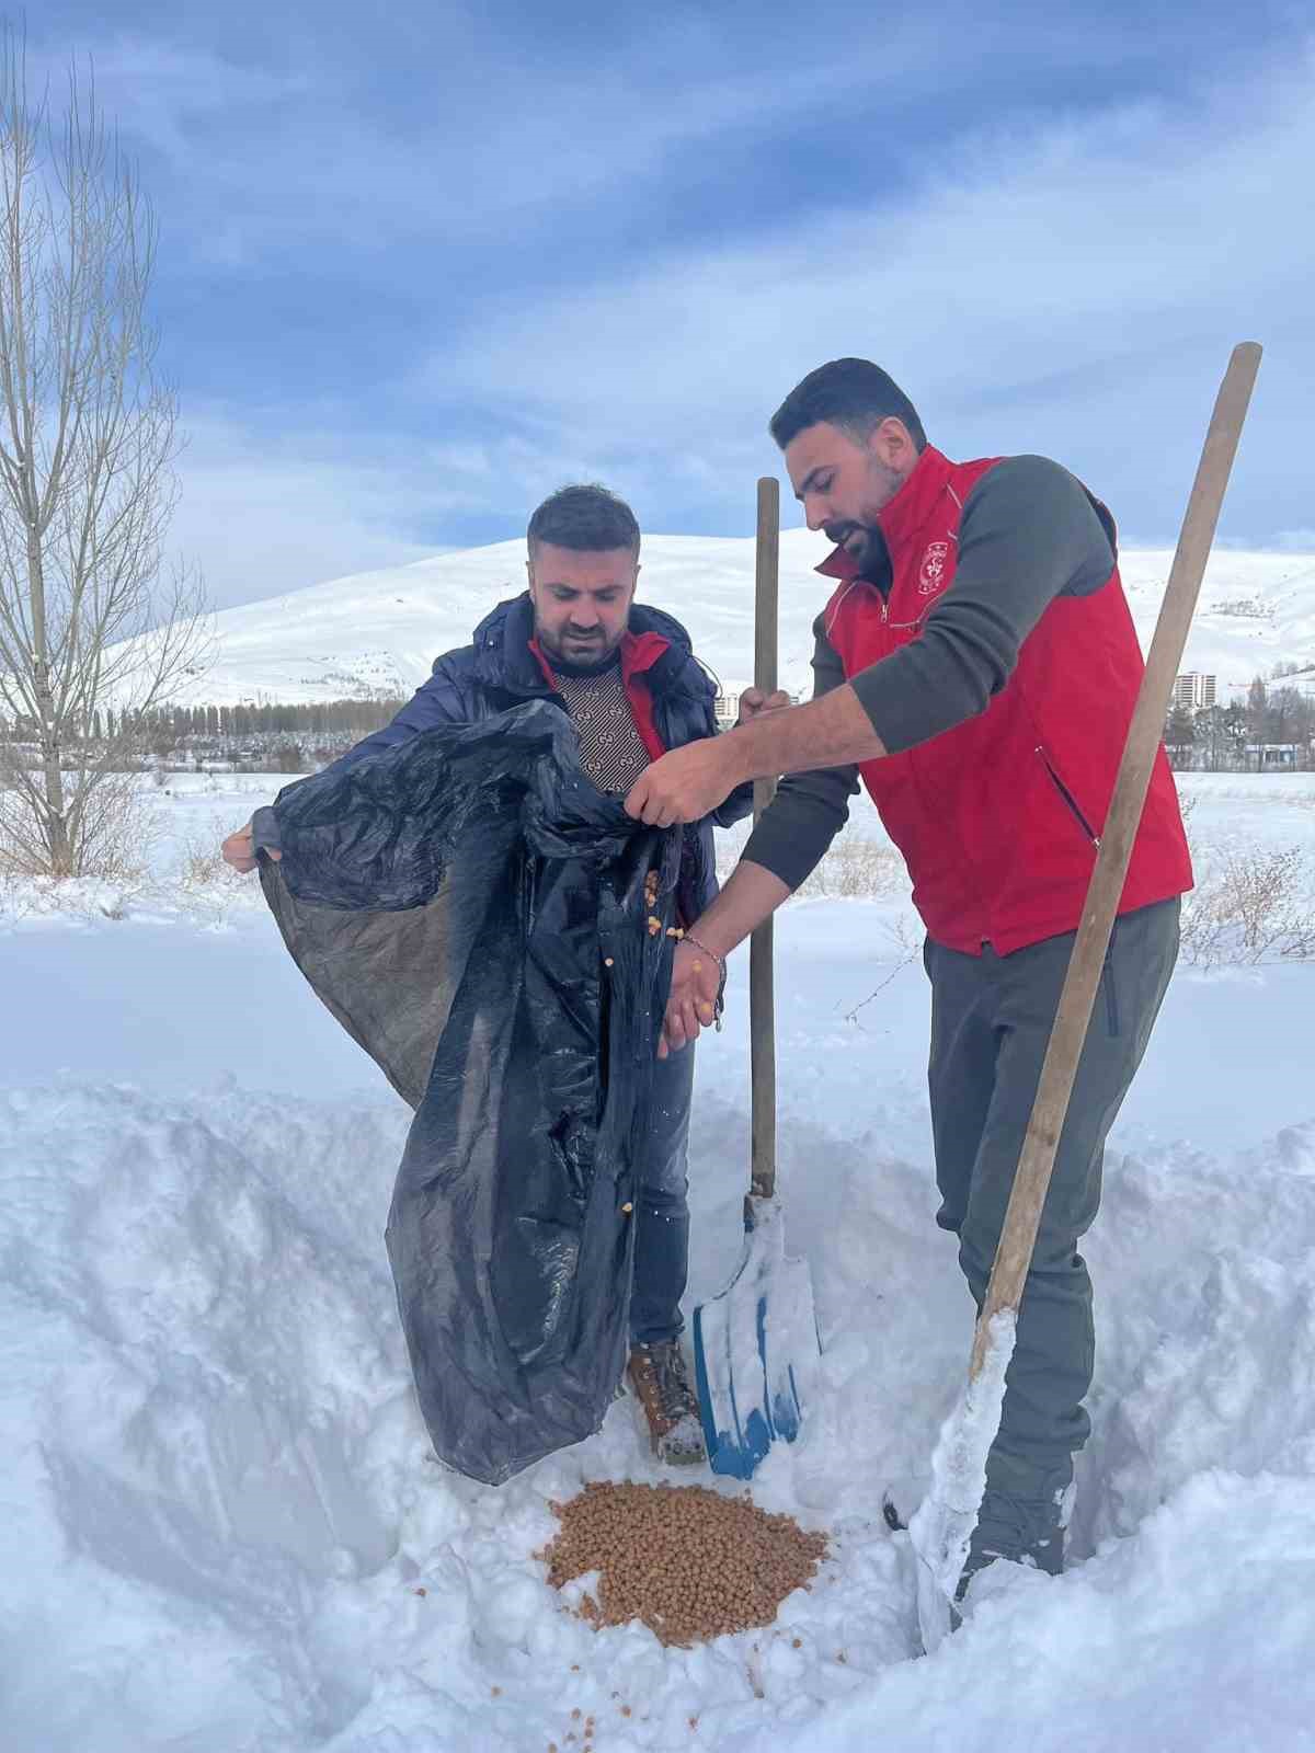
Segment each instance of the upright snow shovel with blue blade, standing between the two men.
M754 685L777 687L777 561L780 489L757 484L754 578ZM771 803L775 780L754 784L754 820ZM801 1388L819 1357L814 1287L807 1260L785 1257L777 1199L777 1059L771 983L771 920L749 940L750 1183L745 1243L735 1278L694 1309L694 1378L703 1439L714 1473L750 1480L775 1441L793 1443L803 1420Z

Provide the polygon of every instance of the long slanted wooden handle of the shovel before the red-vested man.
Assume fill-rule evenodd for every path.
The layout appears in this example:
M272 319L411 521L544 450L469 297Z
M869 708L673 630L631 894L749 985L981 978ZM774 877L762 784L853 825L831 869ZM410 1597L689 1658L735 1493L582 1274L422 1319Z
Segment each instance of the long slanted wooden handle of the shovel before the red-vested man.
M1233 458L1238 454L1241 424L1247 419L1259 368L1261 349L1255 342L1241 342L1234 347L1215 400L1215 412L1210 417L1201 463L1178 536L1178 550L1173 556L1164 603L1155 624L1155 638L1147 657L1147 673L1141 678L1133 722L1119 763L1119 778L1101 836L1101 850L1087 889L1064 990L1059 996L1050 1045L1041 1066L1041 1082L1036 1089L1036 1103L1013 1176L1013 1194L996 1248L996 1264L973 1338L970 1380L977 1380L985 1362L991 1318L1003 1309L1017 1309L1022 1301L1022 1287L1031 1266L1036 1229L1050 1187L1050 1171L1096 1003L1105 952L1110 947L1119 898L1124 892L1124 878L1133 857L1133 841L1164 735L1169 692L1182 663L1196 600L1201 594L1210 543L1215 536L1219 510L1224 503Z

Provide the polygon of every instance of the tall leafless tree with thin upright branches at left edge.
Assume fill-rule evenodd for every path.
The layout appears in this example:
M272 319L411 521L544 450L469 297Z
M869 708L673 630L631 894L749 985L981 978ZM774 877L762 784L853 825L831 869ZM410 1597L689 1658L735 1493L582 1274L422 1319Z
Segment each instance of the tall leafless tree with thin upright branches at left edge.
M123 738L93 740L98 710L139 722L209 640L200 577L163 566L179 440L146 309L154 254L154 216L91 74L70 70L54 114L47 95L30 98L23 39L5 26L0 862L54 876L96 873L123 845Z

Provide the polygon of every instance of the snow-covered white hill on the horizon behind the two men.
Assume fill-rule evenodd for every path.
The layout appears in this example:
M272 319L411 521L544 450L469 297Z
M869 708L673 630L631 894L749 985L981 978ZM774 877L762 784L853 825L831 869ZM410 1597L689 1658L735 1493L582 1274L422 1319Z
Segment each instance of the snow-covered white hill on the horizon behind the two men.
M826 542L787 529L780 542L780 673L810 685L812 621L829 594L812 568ZM754 542L731 536L645 536L640 593L694 635L726 684L752 673ZM1173 559L1133 549L1122 575L1143 645ZM333 578L217 615L216 663L184 703L314 701L410 692L433 657L470 638L475 622L524 587L524 543L496 542L437 559ZM1280 663L1315 666L1315 554L1215 552L1184 668L1219 677L1220 694Z

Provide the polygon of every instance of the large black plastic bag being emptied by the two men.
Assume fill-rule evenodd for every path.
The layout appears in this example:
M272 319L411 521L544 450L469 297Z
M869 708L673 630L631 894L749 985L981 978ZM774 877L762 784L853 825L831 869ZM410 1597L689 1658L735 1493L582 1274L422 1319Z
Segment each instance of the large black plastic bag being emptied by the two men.
M440 1460L496 1485L596 1430L626 1360L633 1203L680 831L594 789L545 701L281 792L265 896L416 1108L387 1218Z

